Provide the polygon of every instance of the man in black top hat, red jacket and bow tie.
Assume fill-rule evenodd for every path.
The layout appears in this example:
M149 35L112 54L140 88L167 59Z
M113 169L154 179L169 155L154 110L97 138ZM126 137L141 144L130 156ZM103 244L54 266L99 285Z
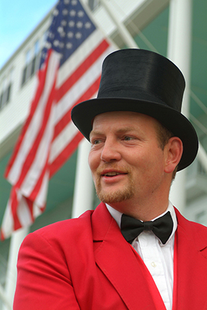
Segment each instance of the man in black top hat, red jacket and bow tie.
M159 54L107 56L98 98L72 111L102 203L25 238L14 310L207 309L207 228L168 201L197 154L183 92Z

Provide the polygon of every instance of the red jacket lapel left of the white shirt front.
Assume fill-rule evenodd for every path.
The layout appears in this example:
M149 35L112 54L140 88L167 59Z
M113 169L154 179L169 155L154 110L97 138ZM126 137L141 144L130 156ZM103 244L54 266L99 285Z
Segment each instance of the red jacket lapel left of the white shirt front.
M124 239L104 204L100 204L94 211L92 229L96 263L127 308L166 309L144 262Z

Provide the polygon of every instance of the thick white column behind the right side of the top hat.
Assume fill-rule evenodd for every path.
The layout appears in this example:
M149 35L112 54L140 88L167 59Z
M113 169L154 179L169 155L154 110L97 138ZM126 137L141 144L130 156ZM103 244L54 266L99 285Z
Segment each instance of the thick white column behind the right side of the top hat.
M186 90L182 103L182 113L188 118L191 56L191 0L171 0L168 29L168 59L182 71L186 80ZM181 212L186 205L186 170L177 173L171 187L170 199Z

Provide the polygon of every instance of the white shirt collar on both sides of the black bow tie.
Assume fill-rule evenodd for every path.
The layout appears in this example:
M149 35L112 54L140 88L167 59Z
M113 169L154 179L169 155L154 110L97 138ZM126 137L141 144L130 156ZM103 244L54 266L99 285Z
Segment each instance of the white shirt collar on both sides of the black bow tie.
M122 213L116 209L114 209L113 207L111 207L110 205L107 205L107 209L109 211L109 213L111 214L111 216L114 218L114 220L116 220L116 223L118 224L118 227L121 227L121 218L122 218ZM175 234L175 231L177 229L177 217L175 214L175 209L172 205L172 203L169 201L168 202L168 207L166 209L166 211L164 211L162 214L160 214L160 216L157 216L156 218L153 218L153 220L156 220L157 218L160 218L161 216L164 216L164 214L166 214L168 211L171 212L171 216L173 219L173 231L172 234L170 236L170 238L168 240L171 239L171 237ZM168 243L168 242L166 242Z

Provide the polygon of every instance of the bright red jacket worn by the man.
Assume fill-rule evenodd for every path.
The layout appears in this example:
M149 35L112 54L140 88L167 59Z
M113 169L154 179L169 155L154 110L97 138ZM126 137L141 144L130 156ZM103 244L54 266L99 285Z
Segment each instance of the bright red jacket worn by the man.
M173 310L207 309L207 227L177 214ZM28 235L14 310L164 310L151 274L104 204Z

